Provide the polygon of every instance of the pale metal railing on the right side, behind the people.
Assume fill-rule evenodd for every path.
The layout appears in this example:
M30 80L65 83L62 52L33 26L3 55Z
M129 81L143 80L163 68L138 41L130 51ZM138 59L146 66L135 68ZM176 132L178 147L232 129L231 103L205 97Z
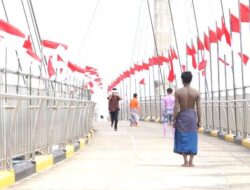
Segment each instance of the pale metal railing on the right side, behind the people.
M161 121L161 96L140 99L141 120ZM202 99L202 125L206 131L218 131L222 134L232 134L235 138L250 136L250 99L233 100ZM130 118L128 102L121 104L120 119Z

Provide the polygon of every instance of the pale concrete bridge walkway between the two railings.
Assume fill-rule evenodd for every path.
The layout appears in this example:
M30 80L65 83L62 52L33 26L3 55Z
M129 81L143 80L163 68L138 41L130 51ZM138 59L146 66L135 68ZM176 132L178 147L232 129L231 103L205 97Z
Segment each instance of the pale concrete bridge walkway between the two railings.
M162 138L160 124L108 122L95 124L85 150L8 189L23 190L202 190L250 189L250 150L207 135L199 135L196 167L184 168L173 153L173 139Z

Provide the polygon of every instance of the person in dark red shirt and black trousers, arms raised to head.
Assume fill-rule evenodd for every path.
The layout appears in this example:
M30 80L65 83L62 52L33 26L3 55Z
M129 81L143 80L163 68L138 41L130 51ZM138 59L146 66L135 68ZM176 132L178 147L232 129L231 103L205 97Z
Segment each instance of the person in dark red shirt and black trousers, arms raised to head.
M117 131L117 124L118 124L118 113L119 113L119 101L122 99L118 93L116 88L113 88L112 94L107 98L108 99L108 109L111 117L111 127L115 123L114 130Z

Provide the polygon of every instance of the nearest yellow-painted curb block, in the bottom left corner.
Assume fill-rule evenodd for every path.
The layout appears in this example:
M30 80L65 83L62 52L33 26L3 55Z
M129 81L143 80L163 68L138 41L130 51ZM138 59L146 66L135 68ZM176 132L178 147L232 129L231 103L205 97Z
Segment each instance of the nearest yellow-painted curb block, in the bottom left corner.
M0 189L10 186L15 183L14 170L0 171Z

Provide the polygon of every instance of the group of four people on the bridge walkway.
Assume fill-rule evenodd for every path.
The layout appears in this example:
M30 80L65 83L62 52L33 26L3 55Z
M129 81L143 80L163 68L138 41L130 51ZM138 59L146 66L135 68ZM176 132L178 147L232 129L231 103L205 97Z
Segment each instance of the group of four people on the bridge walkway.
M190 86L192 81L190 71L183 72L181 79L183 87L175 91L167 89L167 95L162 100L163 137L167 129L174 134L174 152L183 156L184 167L193 167L193 158L197 154L198 135L197 128L201 127L200 93ZM111 127L117 131L119 101L122 99L115 88L108 96ZM137 94L130 101L130 126L138 126L140 105ZM189 159L188 159L189 156Z

